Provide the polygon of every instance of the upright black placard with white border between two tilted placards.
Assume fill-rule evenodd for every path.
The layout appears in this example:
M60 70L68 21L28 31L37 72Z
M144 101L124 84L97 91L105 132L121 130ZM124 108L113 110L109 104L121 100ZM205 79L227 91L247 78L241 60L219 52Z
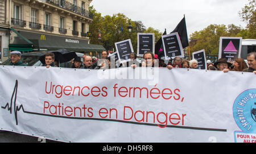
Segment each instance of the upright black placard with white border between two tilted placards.
M155 53L154 33L138 33L137 56L143 56L146 52Z

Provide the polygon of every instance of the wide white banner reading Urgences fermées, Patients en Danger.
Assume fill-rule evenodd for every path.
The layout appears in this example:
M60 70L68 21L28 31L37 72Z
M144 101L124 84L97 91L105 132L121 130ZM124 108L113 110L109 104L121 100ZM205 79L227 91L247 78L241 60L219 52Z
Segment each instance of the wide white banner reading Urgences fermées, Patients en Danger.
M0 76L1 130L67 142L255 142L254 73L0 66Z

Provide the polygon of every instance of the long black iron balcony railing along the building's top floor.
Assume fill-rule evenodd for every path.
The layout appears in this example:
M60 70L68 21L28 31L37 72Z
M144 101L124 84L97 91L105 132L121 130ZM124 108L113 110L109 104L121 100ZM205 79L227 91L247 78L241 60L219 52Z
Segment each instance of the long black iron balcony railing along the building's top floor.
M83 15L86 18L93 19L93 13L90 13L88 10L85 10L79 6L73 5L70 2L64 0L46 0L46 2L51 3L52 5L62 7L63 9L72 11L73 13Z

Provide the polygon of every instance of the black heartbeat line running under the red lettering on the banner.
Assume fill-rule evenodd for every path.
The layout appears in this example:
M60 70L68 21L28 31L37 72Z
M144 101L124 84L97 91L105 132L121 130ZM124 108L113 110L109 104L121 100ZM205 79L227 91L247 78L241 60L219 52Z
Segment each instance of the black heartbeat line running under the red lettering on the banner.
M23 105L16 105L16 99L17 99L17 91L18 91L18 80L15 81L15 86L13 90L13 94L11 95L11 104L7 102L5 106L1 106L2 109L7 109L10 111L10 114L12 114L13 107L14 107L14 115L15 115L15 121L16 125L18 125L18 111L22 110L23 113L26 114L33 114L33 115L42 115L42 116L51 116L55 118L65 118L65 119L80 119L80 120L100 120L100 121L109 121L109 122L120 122L120 123L131 123L131 124L142 124L146 126L158 126L158 124L152 124L152 123L140 123L140 122L132 122L132 121L124 121L124 120L118 120L118 119L100 119L100 118L77 118L77 117L67 117L67 116L60 116L60 115L48 115L48 114L42 114L42 113L34 113L30 111L25 111L23 108ZM13 105L14 104L14 105ZM161 124L160 124L161 125ZM167 125L168 128L183 128L183 129L189 129L189 130L201 130L201 131L221 131L226 132L226 129L220 129L220 128L201 128L201 127L189 127L189 126L173 126L173 125Z

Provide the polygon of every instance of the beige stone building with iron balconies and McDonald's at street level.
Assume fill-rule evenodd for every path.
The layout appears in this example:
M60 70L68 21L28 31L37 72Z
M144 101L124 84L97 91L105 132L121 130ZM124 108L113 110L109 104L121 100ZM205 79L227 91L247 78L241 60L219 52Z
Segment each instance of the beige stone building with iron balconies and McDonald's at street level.
M97 56L98 51L104 50L102 45L89 44L87 37L89 23L93 20L93 14L89 12L92 0L1 2L5 5L5 16L0 18L5 18L7 30L9 28L9 32L5 32L9 36L9 53L14 50L31 52L65 48ZM2 56L2 61L6 58Z

